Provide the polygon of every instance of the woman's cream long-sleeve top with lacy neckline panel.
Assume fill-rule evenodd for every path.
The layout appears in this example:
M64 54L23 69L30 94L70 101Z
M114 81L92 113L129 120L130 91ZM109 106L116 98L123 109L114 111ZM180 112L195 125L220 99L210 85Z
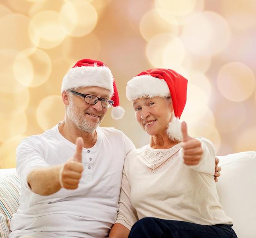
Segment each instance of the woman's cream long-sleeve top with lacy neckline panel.
M204 153L195 166L183 163L180 144L171 149L146 145L128 153L116 222L128 229L144 217L202 225L232 224L216 190L215 148L209 140L198 139Z

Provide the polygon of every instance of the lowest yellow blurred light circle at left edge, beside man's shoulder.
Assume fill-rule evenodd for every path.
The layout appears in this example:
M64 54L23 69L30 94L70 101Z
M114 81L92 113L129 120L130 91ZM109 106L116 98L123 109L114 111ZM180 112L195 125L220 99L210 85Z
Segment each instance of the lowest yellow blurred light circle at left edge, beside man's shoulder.
M16 148L26 136L18 135L6 140L0 147L0 168L16 167Z

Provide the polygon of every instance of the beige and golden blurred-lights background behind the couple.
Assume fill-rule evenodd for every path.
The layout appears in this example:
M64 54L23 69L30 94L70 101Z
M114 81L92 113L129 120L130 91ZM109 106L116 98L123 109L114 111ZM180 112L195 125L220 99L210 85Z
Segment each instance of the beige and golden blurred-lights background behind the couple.
M189 80L191 136L218 155L256 150L255 16L255 0L0 0L0 168L16 166L22 138L63 119L62 78L82 58L110 67L126 114L102 126L137 147L149 137L126 82L166 67Z

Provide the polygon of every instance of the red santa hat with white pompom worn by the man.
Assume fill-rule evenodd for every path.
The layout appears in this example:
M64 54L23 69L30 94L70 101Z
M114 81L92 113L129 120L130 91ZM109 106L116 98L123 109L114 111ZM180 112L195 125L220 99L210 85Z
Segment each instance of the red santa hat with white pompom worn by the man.
M74 67L64 76L61 92L79 87L102 87L110 91L111 100L114 101L111 112L112 118L119 119L124 116L124 109L119 105L119 96L115 79L110 69L101 61L83 59L76 62Z

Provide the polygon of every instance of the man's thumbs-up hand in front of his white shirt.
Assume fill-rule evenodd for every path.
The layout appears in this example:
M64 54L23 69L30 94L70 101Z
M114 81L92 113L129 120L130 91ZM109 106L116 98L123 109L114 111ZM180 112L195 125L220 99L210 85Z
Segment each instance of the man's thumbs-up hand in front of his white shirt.
M83 172L82 151L83 138L79 137L76 139L76 152L74 153L74 156L67 160L60 169L59 181L61 187L65 189L78 188Z

